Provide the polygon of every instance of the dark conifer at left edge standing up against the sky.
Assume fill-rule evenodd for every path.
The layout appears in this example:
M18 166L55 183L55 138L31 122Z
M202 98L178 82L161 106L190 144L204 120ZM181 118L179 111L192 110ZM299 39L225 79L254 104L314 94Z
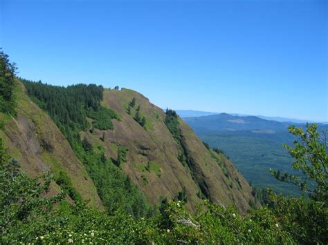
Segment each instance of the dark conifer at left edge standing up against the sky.
M15 70L16 64L10 63L9 56L0 48L0 112L16 115L15 112Z

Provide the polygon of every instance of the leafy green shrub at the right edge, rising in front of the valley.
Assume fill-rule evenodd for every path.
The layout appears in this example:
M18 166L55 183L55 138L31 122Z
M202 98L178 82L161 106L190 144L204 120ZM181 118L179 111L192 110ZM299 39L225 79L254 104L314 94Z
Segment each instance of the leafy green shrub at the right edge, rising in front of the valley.
M289 127L289 132L297 137L295 148L284 147L294 159L295 170L302 176L271 170L280 181L295 184L310 198L286 198L272 195L268 205L271 206L286 231L302 244L325 244L328 241L328 193L327 193L327 141L325 134L320 135L316 124L307 124L303 128Z

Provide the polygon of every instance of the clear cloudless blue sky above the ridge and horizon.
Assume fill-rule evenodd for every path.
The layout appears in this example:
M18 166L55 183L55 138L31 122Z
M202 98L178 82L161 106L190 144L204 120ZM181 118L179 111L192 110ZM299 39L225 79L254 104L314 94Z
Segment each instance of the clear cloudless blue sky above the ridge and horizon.
M0 0L0 46L26 79L328 121L327 11L325 0Z

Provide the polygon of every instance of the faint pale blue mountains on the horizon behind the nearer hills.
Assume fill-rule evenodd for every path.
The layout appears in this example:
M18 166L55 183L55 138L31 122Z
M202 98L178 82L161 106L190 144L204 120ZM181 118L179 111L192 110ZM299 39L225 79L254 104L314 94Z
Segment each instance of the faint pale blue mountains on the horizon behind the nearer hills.
M221 114L220 112L206 112L201 110L176 110L176 113L179 114L180 117L203 117L203 116L210 116L210 115L218 115ZM238 113L228 113L233 116L239 116L239 117L248 117L252 115L243 115ZM303 120L303 119L294 119L294 118L287 118L287 117L266 117L262 115L255 115L256 117L266 119L266 120L273 120L273 121L280 121L280 122L293 122L293 123L313 123L315 121L311 120ZM321 124L328 124L328 121L320 122Z

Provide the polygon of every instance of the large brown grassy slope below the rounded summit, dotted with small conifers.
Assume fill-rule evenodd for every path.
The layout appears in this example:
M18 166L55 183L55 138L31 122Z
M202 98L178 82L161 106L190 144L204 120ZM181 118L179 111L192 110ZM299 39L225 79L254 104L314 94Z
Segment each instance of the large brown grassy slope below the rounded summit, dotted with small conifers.
M129 114L127 108L134 98L136 105ZM241 210L254 201L250 186L233 164L203 146L179 119L183 154L188 158L188 164L181 164L176 139L164 123L165 113L143 95L124 88L104 90L102 106L116 110L120 121L113 120L113 130L95 129L82 136L103 146L105 155L113 160L118 159L118 149L126 149L127 157L120 167L152 204L158 204L160 197L174 198L184 188L191 209L204 196L213 202L235 204ZM138 106L140 117L145 117L145 127L134 119Z

